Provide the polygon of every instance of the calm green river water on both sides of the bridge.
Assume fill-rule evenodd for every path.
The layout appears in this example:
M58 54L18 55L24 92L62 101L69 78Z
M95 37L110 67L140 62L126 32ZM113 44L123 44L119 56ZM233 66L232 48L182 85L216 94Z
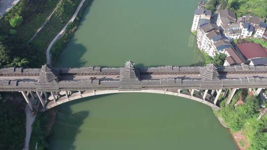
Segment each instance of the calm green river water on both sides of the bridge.
M203 63L190 34L198 0L94 0L56 67ZM204 104L124 93L60 106L53 150L237 150Z

